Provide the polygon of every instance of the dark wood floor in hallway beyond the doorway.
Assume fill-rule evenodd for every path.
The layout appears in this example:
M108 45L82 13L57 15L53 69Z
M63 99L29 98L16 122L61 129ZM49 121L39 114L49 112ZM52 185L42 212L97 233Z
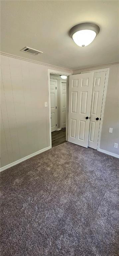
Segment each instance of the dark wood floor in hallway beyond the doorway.
M52 147L58 146L64 142L66 142L66 128L52 132Z

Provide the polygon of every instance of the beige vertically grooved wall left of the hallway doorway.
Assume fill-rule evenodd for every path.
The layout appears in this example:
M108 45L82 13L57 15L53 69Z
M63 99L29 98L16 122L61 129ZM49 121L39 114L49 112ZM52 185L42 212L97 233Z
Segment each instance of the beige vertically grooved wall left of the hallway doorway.
M1 55L1 167L50 146L48 68Z

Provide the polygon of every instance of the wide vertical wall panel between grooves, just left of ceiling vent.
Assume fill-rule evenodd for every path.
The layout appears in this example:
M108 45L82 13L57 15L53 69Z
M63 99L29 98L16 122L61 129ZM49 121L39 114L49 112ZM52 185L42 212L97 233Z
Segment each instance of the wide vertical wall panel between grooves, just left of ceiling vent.
M23 158L28 155L29 152L25 120L21 61L19 59L14 60L13 58L9 58L9 64L14 98L14 108L16 114L17 132L19 138L20 158Z

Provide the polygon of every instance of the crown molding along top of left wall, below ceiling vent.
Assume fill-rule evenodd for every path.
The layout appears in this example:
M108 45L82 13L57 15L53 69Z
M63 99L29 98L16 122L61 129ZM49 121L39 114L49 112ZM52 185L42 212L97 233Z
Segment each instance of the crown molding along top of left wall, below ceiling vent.
M72 69L63 68L63 67L55 66L55 65L52 65L52 64L44 63L44 62L27 59L27 58L16 56L16 55L9 54L9 53L6 53L6 52L0 52L0 55L5 55L7 57L11 57L11 58L15 58L15 59L20 59L20 60L25 60L25 61L28 61L28 62L36 63L36 64L39 64L39 65L47 66L47 67L51 67L51 68L57 68L57 69L60 68L61 70L67 71L67 72L72 72L73 71Z

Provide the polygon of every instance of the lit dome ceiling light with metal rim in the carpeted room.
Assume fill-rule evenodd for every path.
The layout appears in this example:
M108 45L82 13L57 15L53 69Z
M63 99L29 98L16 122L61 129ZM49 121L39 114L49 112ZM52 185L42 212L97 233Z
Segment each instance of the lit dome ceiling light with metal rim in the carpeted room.
M81 47L87 46L98 35L100 28L94 23L80 23L72 27L69 31L73 41Z

